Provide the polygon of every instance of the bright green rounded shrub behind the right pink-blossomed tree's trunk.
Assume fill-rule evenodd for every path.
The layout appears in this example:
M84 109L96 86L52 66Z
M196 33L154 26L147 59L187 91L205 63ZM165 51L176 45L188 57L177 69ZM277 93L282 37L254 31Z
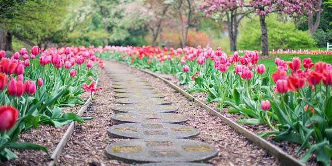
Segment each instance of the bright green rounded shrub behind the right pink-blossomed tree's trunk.
M297 30L293 22L278 21L277 15L267 17L266 24L268 26L269 50L312 48L316 44L308 31ZM243 22L242 27L240 27L238 48L261 49L261 28L258 17Z

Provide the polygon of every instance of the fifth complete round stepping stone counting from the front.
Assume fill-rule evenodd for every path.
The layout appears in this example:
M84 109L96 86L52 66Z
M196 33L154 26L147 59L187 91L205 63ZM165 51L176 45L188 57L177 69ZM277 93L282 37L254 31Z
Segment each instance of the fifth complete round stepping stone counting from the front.
M172 101L162 98L119 98L114 100L123 104L171 104Z

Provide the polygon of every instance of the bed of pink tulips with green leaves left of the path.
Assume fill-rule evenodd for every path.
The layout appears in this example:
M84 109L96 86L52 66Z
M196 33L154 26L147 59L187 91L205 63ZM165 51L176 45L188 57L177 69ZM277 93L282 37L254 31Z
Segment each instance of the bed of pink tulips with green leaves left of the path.
M17 156L10 149L47 149L32 143L18 143L21 132L39 124L62 126L72 121L84 122L75 111L63 113L64 107L84 104L84 92L101 88L94 85L96 67L104 68L95 56L94 47L66 47L40 50L32 47L30 56L25 48L11 58L0 50L0 160ZM89 84L89 85L88 85Z

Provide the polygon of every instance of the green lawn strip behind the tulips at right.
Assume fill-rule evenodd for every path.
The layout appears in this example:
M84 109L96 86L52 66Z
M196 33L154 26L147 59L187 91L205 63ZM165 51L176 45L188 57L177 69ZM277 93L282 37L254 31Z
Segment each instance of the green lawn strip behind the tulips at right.
M273 73L277 70L276 65L274 64L274 59L279 57L282 60L291 61L293 57L299 57L301 60L304 58L311 58L312 63L323 61L329 64L332 64L332 55L306 55L306 54L270 54L271 57L260 57L258 64L264 64L266 69L269 68L269 73ZM304 70L303 66L301 69Z

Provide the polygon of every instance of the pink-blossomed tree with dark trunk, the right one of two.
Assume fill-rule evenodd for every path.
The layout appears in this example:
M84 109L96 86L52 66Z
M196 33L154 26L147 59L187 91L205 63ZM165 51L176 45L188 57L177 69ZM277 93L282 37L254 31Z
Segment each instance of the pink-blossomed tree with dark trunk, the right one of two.
M303 14L312 15L314 12L319 12L315 7L319 4L315 0L253 0L249 2L248 7L254 8L256 14L259 15L261 25L261 44L262 55L268 55L268 29L265 18L274 12L280 14L289 14L290 16L301 16Z

